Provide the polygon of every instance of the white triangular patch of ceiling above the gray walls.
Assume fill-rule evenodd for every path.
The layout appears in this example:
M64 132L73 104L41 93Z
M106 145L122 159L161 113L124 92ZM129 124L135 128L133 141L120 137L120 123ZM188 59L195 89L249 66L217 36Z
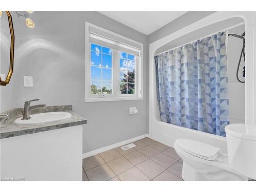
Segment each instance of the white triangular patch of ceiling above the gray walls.
M99 11L117 22L149 35L187 11Z

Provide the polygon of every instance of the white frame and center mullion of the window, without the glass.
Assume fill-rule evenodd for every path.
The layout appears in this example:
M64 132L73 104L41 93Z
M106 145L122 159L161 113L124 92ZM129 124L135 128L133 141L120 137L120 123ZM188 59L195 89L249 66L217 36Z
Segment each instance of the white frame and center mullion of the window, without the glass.
M126 41L133 42L140 45L141 50L139 56L135 56L135 94L120 94L119 89L119 53L118 50L112 49L112 94L91 94L91 44L96 44L102 47L108 47L100 45L97 42L90 41L89 28L101 30L108 34L117 37L117 39L124 39ZM113 39L115 40L115 39ZM126 51L123 51L125 53ZM130 53L133 54L133 53ZM101 63L102 65L102 63ZM141 100L143 99L143 44L135 40L129 39L112 31L103 29L99 26L86 22L85 32L85 102L99 102L99 101L121 101L121 100Z

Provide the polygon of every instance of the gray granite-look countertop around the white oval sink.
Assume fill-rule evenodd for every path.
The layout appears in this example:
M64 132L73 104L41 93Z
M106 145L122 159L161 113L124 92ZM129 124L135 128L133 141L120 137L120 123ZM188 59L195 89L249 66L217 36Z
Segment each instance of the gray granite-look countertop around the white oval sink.
M0 139L15 137L26 134L61 129L69 126L86 124L87 120L73 112L72 105L46 106L31 110L30 114L46 113L46 112L68 112L71 114L69 119L63 119L55 122L18 125L14 120L22 117L22 109L16 108L6 111L2 114L8 114L6 120L1 121Z

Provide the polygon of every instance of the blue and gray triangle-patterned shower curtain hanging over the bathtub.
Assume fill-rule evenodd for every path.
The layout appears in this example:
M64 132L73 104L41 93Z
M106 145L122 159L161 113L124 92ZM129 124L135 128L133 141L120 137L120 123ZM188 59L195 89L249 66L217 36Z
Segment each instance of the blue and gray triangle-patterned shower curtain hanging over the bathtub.
M161 121L226 136L226 32L155 56Z

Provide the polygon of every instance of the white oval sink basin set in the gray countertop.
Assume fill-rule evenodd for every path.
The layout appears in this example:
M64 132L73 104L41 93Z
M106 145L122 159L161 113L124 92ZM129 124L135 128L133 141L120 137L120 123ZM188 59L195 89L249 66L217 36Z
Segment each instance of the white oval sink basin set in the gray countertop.
M67 112L49 112L49 113L38 113L30 115L30 119L22 120L22 117L15 119L15 124L38 124L38 123L49 123L71 117L70 113Z

